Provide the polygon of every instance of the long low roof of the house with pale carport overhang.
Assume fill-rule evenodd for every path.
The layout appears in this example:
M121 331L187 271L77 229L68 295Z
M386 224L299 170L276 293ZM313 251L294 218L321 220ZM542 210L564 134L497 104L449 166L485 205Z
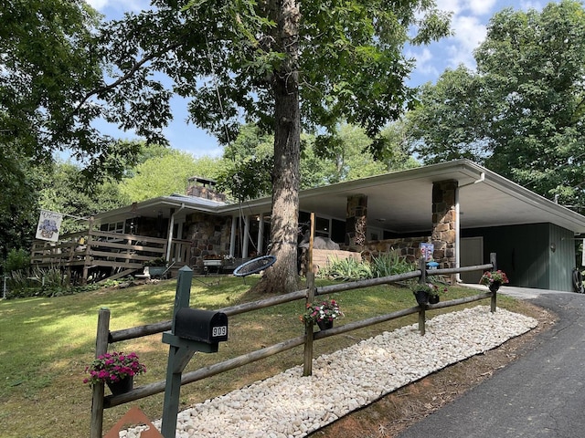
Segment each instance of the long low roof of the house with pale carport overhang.
M336 183L299 193L299 207L305 212L346 219L347 198L367 196L367 226L399 234L428 233L432 227L432 184L456 181L459 186L461 228L510 224L557 224L576 234L585 233L585 216L558 205L512 183L484 167L460 160L416 169L389 172L346 183ZM162 196L96 217L156 216L170 209L187 213L239 215L268 214L271 198L238 204L207 201L191 196Z

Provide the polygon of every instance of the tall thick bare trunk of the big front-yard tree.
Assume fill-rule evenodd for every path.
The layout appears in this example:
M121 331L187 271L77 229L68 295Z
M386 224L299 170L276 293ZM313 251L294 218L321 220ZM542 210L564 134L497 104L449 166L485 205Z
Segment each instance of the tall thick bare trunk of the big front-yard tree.
M296 290L299 215L299 161L301 118L299 108L298 35L300 13L295 0L273 0L274 39L287 54L274 72L274 168L272 170L271 254L274 265L266 270L256 290L285 293Z

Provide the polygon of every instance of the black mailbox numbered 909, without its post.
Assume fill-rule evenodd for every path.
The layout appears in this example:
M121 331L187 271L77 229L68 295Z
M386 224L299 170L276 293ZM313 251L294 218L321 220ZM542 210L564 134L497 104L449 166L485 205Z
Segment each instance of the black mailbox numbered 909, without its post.
M175 316L175 335L206 344L217 344L228 340L228 316L212 310L180 308Z

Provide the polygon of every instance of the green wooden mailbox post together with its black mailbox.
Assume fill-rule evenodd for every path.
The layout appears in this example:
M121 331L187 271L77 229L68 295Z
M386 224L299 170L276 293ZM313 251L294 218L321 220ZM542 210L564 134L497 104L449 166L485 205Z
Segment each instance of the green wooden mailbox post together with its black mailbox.
M197 351L215 353L219 342L228 340L225 313L189 308L192 281L191 268L183 266L179 269L171 331L163 333L163 342L169 344L161 425L165 438L175 438L181 377L186 364Z

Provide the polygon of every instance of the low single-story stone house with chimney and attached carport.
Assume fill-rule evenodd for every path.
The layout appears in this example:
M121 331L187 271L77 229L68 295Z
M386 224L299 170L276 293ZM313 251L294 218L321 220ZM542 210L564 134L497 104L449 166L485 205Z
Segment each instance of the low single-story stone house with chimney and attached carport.
M585 216L467 160L303 190L299 199L300 224L314 213L315 236L330 238L342 250L364 256L397 250L414 260L420 244L431 243L441 267L489 263L496 253L511 285L573 290ZM144 243L149 239L156 249L148 255L203 272L209 259L237 266L264 254L270 218L270 197L227 203L212 181L194 177L186 194L96 214L90 226L105 245L114 245L113 234L131 245L114 245L124 254L120 273L142 266L145 249L153 250ZM89 253L83 263L100 263L95 251ZM109 258L115 262L116 256ZM46 254L38 260L43 257L47 260ZM461 280L476 283L479 276L462 273Z

